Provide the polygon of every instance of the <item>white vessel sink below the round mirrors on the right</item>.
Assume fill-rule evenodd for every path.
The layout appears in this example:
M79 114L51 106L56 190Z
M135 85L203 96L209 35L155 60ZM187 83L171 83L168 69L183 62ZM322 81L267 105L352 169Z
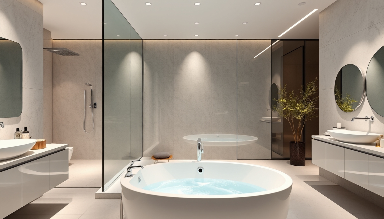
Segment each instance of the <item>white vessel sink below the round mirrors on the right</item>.
M371 132L359 132L350 130L328 130L329 135L341 142L354 144L370 144L376 142L380 134Z

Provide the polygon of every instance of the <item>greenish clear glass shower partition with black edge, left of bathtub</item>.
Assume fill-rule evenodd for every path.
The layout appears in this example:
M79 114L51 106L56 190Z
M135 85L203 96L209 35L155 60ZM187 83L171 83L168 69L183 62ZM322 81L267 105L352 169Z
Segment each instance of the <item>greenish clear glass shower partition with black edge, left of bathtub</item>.
M103 190L142 156L142 40L111 0L103 19Z

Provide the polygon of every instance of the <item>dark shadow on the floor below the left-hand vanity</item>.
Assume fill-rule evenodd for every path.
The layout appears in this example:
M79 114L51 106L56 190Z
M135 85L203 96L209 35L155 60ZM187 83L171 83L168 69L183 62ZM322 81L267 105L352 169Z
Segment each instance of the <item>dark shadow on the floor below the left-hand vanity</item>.
M4 219L50 219L67 204L27 204Z

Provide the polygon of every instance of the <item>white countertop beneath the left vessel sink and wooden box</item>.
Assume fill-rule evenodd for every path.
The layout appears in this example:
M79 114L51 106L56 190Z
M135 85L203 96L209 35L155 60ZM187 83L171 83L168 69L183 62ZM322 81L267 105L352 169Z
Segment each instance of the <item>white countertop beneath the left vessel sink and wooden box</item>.
M46 148L38 150L29 150L18 157L0 161L0 171L9 169L9 167L18 166L35 158L48 155L50 153L55 153L56 151L63 150L66 147L68 147L68 144L47 144Z

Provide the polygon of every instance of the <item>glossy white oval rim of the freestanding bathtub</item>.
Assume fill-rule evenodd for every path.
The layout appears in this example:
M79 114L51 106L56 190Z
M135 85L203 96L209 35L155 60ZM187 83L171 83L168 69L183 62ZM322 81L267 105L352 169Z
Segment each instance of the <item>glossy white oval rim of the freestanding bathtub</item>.
M273 194L273 193L278 193L281 191L285 191L286 189L291 189L293 180L290 176L288 176L286 173L283 173L279 170L275 170L273 168L269 168L266 166L260 166L260 165L254 165L254 164L248 164L248 163L239 163L239 162L228 162L228 161L175 161L171 163L189 163L189 162L199 162L199 163L233 163L233 164L240 164L240 165L247 165L247 166L255 166L259 168L264 168L267 170L274 171L281 176L284 177L285 183L278 188L275 189L270 189L266 191L261 191L261 192L255 192L255 193L242 193L242 194L227 194L227 195L189 195L189 194L172 194L172 193L161 193L161 192L156 192L156 191L149 191L146 189L141 189L138 188L130 183L132 178L124 178L124 174L120 178L120 185L122 187L122 192L124 190L124 187L127 189L130 189L132 191L138 192L138 193L144 193L148 195L154 195L154 196L163 196L163 197L170 197L170 198L197 198L197 199L217 199L217 198L243 198L243 197L253 197L253 196L263 196L267 194ZM151 164L151 165L146 165L146 166L152 166L152 165L162 165L162 164L167 164L167 163L157 163L157 164ZM146 167L144 166L144 168ZM139 170L141 171L141 170ZM136 174L134 174L135 176Z

